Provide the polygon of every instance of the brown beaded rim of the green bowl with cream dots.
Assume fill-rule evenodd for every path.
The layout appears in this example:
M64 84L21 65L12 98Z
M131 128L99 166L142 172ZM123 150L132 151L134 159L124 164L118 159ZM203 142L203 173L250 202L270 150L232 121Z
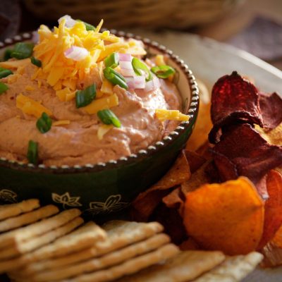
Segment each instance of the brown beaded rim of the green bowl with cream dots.
M4 47L8 47L9 45L16 44L17 42L21 42L24 40L32 39L36 31L33 32L25 32L21 35L15 35L13 38L6 38L4 42L0 42L0 49ZM145 149L140 149L136 154L130 154L129 156L121 157L119 159L113 159L106 162L99 162L97 164L85 164L85 165L75 165L75 166L45 166L44 164L34 165L34 164L26 164L22 161L13 161L6 159L4 157L0 157L0 167L13 168L21 171L30 171L30 172L46 172L46 173L90 173L104 170L105 168L116 168L118 166L123 166L125 164L131 164L135 161L140 161L145 157L148 157L155 152L159 151L159 149L166 147L166 145L173 142L178 135L183 133L189 126L190 123L195 123L195 116L197 116L197 111L199 109L199 89L197 86L197 82L195 80L195 76L192 71L188 67L186 63L176 54L173 54L173 51L167 49L164 45L159 44L156 41L153 41L146 37L141 37L139 35L134 35L131 32L123 32L118 30L110 30L110 32L119 37L125 38L133 38L137 40L141 40L145 45L151 47L152 49L157 49L162 54L168 55L169 59L176 63L178 67L183 71L185 78L188 80L188 85L190 86L190 105L185 114L190 116L189 121L181 122L175 130L171 131L168 135L162 138L160 141L154 143L154 145L150 145Z

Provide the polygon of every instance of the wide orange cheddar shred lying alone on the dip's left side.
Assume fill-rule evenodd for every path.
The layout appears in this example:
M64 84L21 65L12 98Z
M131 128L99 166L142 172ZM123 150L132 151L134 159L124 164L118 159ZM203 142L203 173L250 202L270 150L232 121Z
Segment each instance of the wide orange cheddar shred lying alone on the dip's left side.
M42 106L41 103L21 93L16 98L16 106L18 109L23 111L23 113L29 114L31 116L35 116L36 118L40 118L40 116L44 112L49 116L52 116L52 112L49 109Z

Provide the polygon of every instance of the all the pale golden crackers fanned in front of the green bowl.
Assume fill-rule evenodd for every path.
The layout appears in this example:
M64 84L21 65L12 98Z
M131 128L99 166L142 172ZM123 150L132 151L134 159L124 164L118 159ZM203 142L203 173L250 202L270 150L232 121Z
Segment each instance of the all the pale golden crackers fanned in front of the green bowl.
M103 228L102 228L103 227ZM240 281L261 261L253 252L181 252L157 222L84 223L38 200L0 206L0 273L11 281Z

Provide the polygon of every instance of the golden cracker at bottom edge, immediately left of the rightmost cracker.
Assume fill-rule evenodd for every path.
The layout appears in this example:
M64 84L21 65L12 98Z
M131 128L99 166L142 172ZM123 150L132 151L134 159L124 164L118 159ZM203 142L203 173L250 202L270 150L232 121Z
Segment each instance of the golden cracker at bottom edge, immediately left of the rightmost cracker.
M164 264L151 266L119 282L185 282L197 278L225 259L222 252L186 251Z

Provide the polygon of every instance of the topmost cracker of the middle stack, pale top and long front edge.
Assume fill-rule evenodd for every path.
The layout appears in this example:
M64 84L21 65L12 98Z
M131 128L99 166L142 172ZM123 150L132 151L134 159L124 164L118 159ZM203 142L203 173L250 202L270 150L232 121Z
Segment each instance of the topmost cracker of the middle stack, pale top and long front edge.
M112 224L114 222L114 224ZM157 222L136 223L130 221L111 221L111 227L107 228L107 238L97 242L93 247L80 252L56 259L47 259L36 264L37 271L44 269L59 269L66 265L105 255L114 250L145 240L161 231L163 226ZM22 263L23 265L23 263ZM35 264L32 264L35 267Z

